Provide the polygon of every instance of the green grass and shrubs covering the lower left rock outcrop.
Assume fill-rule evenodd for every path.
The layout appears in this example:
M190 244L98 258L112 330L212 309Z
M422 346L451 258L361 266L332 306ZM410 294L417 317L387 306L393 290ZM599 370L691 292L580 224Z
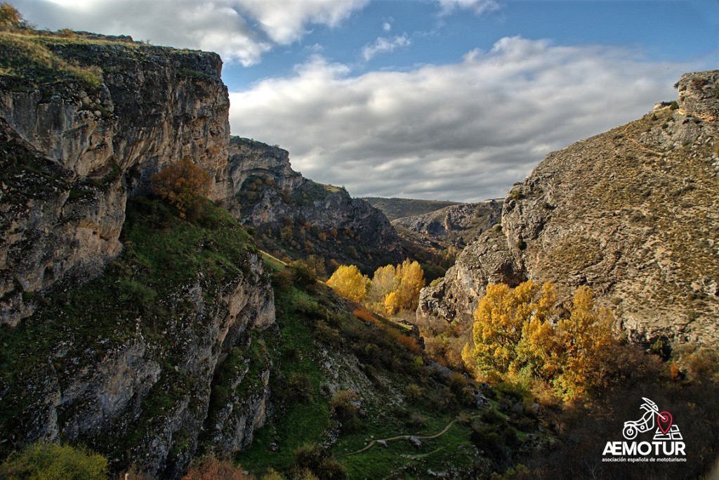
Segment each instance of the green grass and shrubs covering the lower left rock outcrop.
M68 283L50 294L32 296L30 300L37 302L32 317L17 327L0 327L0 381L4 391L12 392L0 399L0 430L8 440L4 454L24 443L29 425L47 421L43 409L45 402L51 402L47 396L52 389L68 389L65 382L82 381L85 369L97 368L117 352L135 348L132 345L147 343L143 347L150 357L147 368L156 368L154 373L132 374L157 375L157 381L149 381L152 390L137 398L142 400L138 417L117 425L114 435L93 438L94 447L111 454L120 465L133 461L132 448L145 435L157 435L159 420L170 415L178 402L198 394L198 382L211 381L187 366L187 353L181 348L188 342L183 338L185 330L211 329L209 322L214 321L211 315L196 312L197 299L190 291L199 282L203 308L220 304L220 296L228 293L226 284L251 276L247 262L255 252L252 240L237 220L209 201L204 201L193 222L145 197L131 199L126 214L123 253L103 276L83 286ZM91 384L93 379L86 381ZM55 386L48 391L48 384ZM140 394L145 387L134 388ZM46 435L53 435L53 428L63 431L84 421L77 416L87 405L70 399L57 406L57 425L38 426L47 430Z

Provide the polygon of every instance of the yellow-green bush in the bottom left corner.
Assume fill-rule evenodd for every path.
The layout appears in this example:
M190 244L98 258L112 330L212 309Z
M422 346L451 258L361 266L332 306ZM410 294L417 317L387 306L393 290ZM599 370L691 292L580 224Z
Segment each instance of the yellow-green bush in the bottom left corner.
M11 453L0 466L0 478L106 480L107 458L70 445L35 443Z

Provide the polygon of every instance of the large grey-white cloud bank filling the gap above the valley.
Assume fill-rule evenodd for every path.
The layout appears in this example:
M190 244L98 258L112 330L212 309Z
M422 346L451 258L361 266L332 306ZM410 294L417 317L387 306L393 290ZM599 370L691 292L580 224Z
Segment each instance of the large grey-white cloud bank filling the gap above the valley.
M503 38L460 63L352 76L316 56L230 96L234 135L357 196L504 196L550 150L638 118L698 65L620 47Z

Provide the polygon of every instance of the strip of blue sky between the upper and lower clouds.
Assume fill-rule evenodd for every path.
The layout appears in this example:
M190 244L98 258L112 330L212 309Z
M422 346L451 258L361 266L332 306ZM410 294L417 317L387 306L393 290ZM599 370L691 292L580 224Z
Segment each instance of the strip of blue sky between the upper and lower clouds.
M342 27L313 26L301 41L270 51L261 63L228 65L225 83L244 89L262 78L287 75L317 50L362 73L454 63L470 50L488 50L500 38L516 35L557 45L629 47L655 60L716 60L718 22L719 1L714 0L505 1L479 15L466 9L444 13L435 1L373 1ZM411 45L362 61L362 48L377 37L398 36Z

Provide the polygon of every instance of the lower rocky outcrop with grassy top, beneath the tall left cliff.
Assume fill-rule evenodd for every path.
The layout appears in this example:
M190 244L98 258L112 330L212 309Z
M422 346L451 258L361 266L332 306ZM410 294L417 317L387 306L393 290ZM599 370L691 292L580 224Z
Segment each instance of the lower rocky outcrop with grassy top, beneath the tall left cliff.
M132 246L108 271L0 332L0 453L62 439L175 479L199 449L236 453L262 425L275 304L247 234L226 212L209 231L133 208ZM177 251L152 258L157 242Z

